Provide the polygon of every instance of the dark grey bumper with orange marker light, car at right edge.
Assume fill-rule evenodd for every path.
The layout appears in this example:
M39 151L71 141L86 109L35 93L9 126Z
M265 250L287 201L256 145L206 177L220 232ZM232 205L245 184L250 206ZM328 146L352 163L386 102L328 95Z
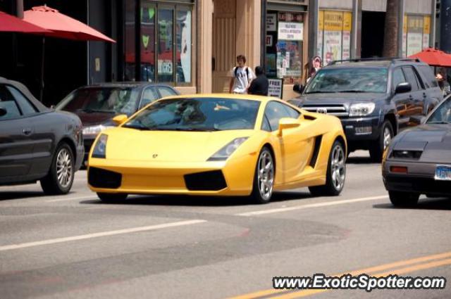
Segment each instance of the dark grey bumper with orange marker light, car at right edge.
M407 174L390 172L390 167L407 167ZM437 163L387 160L383 163L383 183L388 191L451 196L451 181L435 180Z

